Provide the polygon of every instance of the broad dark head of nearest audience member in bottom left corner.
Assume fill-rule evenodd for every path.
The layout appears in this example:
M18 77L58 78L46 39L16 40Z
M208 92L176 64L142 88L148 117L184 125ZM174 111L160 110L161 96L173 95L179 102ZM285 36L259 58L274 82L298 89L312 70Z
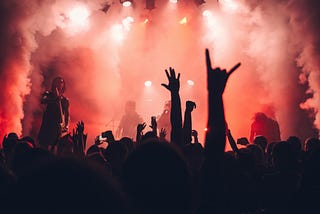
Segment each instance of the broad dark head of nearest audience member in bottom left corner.
M70 158L39 163L18 179L10 197L10 213L128 213L120 186L104 170Z

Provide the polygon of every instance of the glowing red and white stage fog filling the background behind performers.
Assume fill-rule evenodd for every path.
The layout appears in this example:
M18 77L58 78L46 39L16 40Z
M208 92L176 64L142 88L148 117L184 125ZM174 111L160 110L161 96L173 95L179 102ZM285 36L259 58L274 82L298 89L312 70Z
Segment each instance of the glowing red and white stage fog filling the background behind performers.
M199 1L198 1L199 2ZM196 102L193 128L204 141L205 48L233 73L224 94L233 135L248 137L255 112L280 124L281 138L320 128L320 13L317 0L2 0L0 137L36 138L51 81L66 81L70 128L82 120L88 144L117 128L128 100L149 124L169 91L164 70L181 73L182 109ZM145 85L146 81L148 84ZM151 83L151 84L150 84Z

